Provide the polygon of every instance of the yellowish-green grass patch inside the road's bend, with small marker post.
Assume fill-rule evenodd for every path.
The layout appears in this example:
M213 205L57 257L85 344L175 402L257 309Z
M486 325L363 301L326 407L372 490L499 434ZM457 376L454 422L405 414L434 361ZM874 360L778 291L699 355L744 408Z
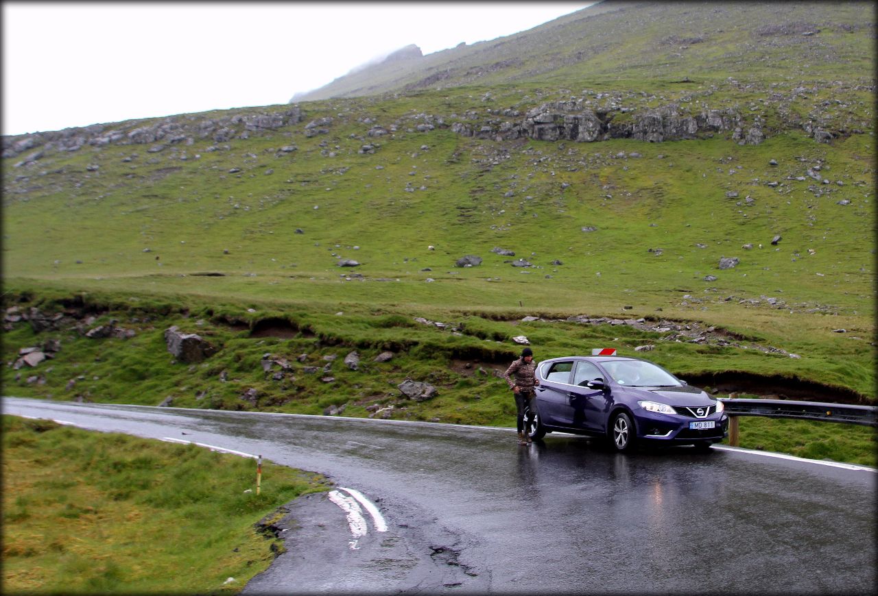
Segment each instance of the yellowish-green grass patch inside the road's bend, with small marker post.
M257 496L252 459L10 415L3 449L4 593L237 593L283 549L254 524L327 489L264 462Z

